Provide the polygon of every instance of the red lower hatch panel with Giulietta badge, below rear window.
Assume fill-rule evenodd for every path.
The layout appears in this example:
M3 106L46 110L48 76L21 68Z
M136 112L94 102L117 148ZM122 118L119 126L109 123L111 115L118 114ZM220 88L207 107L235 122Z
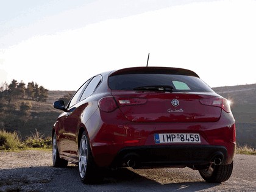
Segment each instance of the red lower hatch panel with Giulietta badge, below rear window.
M148 91L112 91L112 94L121 112L133 122L213 122L221 116L220 107L202 104L215 99L208 94Z

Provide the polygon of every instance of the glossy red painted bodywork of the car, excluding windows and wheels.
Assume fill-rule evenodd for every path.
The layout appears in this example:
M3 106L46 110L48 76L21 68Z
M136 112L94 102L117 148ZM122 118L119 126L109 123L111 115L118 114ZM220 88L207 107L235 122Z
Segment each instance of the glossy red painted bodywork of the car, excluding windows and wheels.
M101 167L122 166L126 155L130 154L140 157L141 164L147 166L207 165L216 153L223 155L223 164L230 164L235 154L233 115L224 111L221 105L200 102L200 99L221 96L213 91L176 93L109 88L109 74L129 74L129 70L140 74L143 69L102 73L99 75L101 82L89 96L77 100L73 106L68 105L52 129L57 135L60 157L78 162L80 136L85 130L94 162ZM181 76L199 78L185 69L152 67L145 70L165 73L168 69L167 74L176 71ZM80 92L82 95L84 91ZM106 97L113 98L113 108L109 112L99 108L99 101ZM133 99L129 101L129 98ZM179 105L172 105L173 99L177 99ZM156 143L154 134L157 133L198 133L201 143Z

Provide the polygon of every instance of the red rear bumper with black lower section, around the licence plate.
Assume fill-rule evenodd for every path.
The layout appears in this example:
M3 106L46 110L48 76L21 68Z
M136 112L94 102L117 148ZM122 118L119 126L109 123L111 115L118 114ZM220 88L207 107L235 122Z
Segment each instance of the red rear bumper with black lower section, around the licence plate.
M141 166L151 167L208 165L218 153L223 156L222 164L233 161L235 122L228 113L213 123L133 123L118 114L117 123L107 113L98 129L88 129L94 161L100 167L125 166L129 155ZM87 127L91 127L89 123ZM157 144L155 133L199 133L201 143Z

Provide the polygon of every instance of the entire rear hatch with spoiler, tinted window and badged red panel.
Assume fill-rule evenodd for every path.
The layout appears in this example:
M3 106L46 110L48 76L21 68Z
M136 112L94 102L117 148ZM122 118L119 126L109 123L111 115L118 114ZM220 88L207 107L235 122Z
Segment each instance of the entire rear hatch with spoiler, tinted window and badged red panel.
M221 116L221 96L187 69L121 69L110 74L108 86L129 121L213 122Z

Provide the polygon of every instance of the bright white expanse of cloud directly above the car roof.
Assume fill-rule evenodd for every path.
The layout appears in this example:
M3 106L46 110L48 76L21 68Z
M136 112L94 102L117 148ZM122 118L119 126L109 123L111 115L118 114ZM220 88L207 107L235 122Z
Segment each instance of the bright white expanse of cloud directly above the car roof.
M198 2L37 35L6 50L5 67L10 78L76 90L102 71L146 66L150 52L149 66L191 69L211 87L255 83L255 7Z

